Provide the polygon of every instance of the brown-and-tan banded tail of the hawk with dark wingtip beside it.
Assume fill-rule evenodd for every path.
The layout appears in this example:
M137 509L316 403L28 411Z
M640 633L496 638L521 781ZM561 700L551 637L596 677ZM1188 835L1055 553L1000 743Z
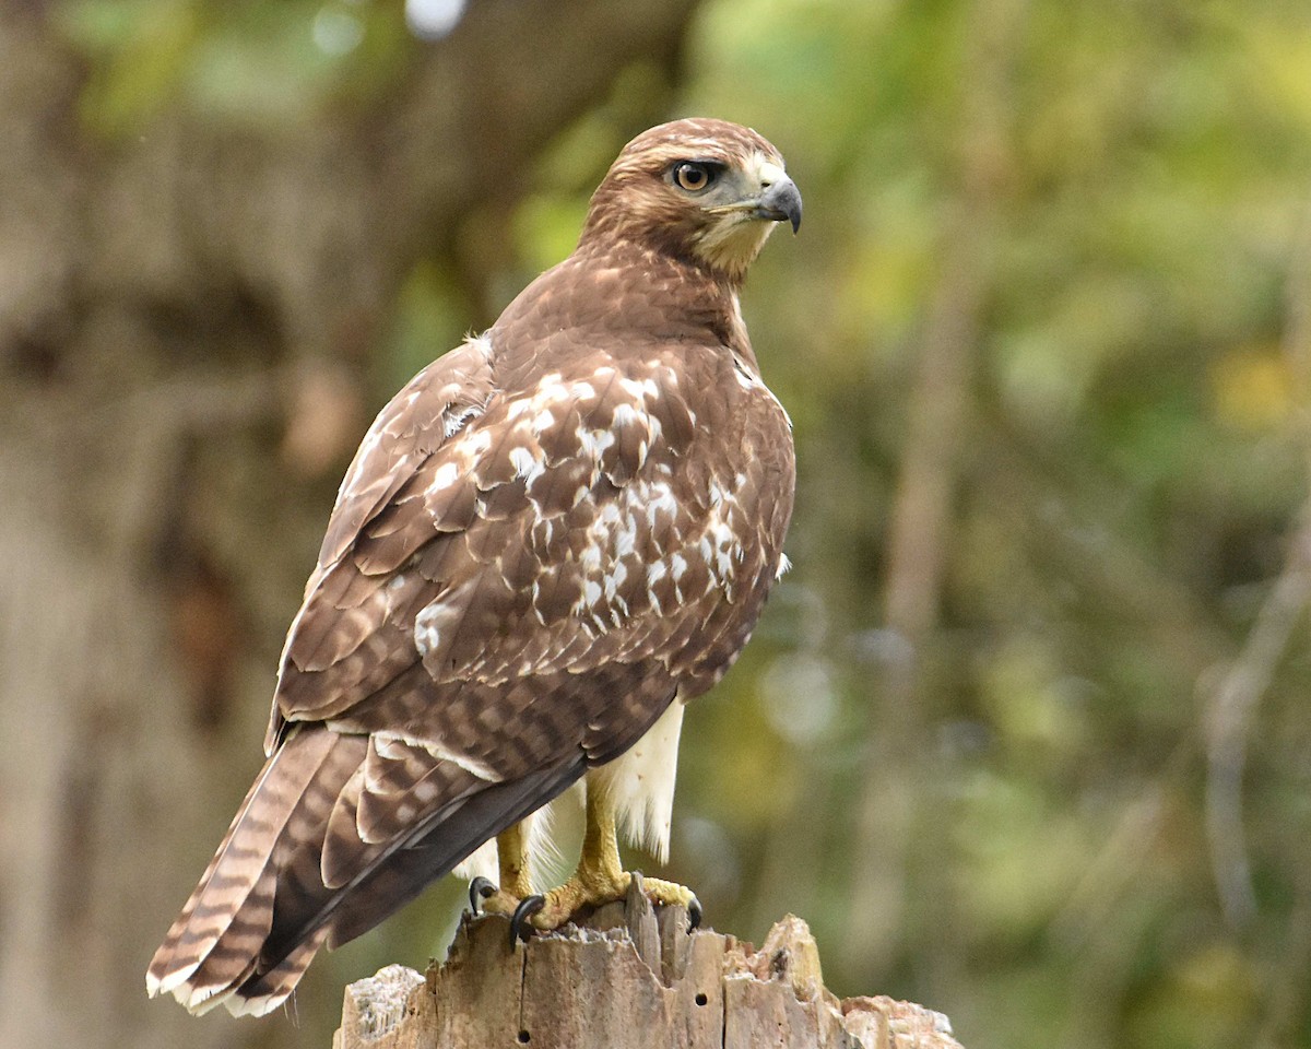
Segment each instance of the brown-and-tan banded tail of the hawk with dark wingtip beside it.
M439 791L426 808L410 808L412 822L391 841L368 842L363 830L347 835L354 821L340 818L357 813L351 784L368 747L367 736L321 725L287 736L155 953L152 997L170 993L193 1012L218 1004L235 1015L269 1012L295 990L323 944L337 947L372 928L568 788L585 766L579 751L511 782L465 787L454 797ZM402 795L399 805L417 802L416 793ZM355 847L342 844L325 864L334 833L354 837Z

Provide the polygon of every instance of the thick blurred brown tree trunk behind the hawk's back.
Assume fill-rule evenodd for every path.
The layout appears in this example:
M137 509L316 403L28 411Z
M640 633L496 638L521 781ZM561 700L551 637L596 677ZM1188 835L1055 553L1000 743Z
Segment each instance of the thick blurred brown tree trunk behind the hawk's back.
M670 68L694 5L481 0L367 111L178 104L115 143L52 5L5 5L0 1042L312 1037L191 1020L144 970L261 763L367 357L416 258L625 66Z

